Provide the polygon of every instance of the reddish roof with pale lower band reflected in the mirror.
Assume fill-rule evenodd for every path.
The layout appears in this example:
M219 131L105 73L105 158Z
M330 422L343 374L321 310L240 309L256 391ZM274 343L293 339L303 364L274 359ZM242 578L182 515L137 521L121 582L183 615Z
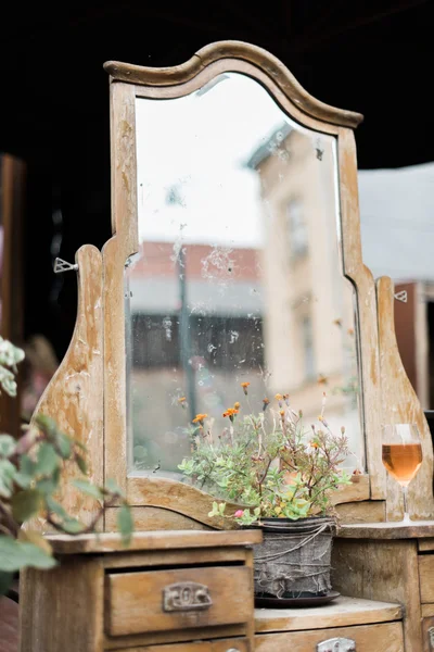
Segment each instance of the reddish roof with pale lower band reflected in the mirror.
M259 250L182 244L184 267L179 268L179 242L142 242L141 258L130 265L127 275L132 312L176 313L184 281L191 314L260 314Z

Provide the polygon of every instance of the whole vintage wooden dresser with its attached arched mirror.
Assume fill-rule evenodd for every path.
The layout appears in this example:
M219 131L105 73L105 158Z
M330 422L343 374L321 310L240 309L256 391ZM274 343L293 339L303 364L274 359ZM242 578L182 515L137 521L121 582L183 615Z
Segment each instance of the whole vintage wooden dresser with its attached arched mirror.
M113 237L77 252L76 329L38 411L86 443L92 479L113 478L137 531L154 534L128 552L116 535L89 549L60 539L60 568L24 577L22 652L246 652L253 629L257 652L433 652L433 444L396 344L393 281L363 264L362 116L316 100L248 43L213 43L173 68L105 70ZM184 426L199 412L221 421L242 381L260 404L264 387L289 391L307 418L327 390L361 471L334 500L341 598L256 610L254 626L254 535L226 531L233 521L209 514L205 484L179 471ZM406 527L382 464L381 425L396 423L417 424L423 452ZM86 523L98 509L74 490L63 502ZM162 592L184 581L209 587L213 605L163 613Z

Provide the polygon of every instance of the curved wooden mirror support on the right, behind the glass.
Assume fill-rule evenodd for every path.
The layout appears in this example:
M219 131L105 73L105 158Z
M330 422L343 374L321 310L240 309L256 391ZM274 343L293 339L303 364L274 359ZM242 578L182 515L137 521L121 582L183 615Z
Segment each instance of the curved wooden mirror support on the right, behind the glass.
M423 461L416 478L411 481L409 512L414 521L434 518L433 497L433 442L430 427L418 397L403 366L395 337L394 284L382 277L376 284L379 299L380 367L381 367L381 415L382 423L416 423L422 442ZM381 430L378 430L380 441ZM403 494L399 485L387 478L387 521L403 518Z

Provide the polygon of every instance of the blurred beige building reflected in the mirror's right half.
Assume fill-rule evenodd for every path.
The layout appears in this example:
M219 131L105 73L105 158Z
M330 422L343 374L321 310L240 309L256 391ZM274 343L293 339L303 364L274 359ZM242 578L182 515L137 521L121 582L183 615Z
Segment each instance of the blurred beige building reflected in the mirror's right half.
M333 147L282 125L248 162L265 206L265 349L272 391L290 392L316 419L321 386L329 423L345 426L361 456L354 290L340 262Z

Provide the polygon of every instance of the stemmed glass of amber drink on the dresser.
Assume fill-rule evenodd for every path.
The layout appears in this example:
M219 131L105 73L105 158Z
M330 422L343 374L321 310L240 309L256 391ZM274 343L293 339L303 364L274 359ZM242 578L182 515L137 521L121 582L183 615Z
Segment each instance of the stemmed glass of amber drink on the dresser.
M408 486L422 464L422 447L417 425L382 426L382 459L391 476L403 487L403 523L410 523L407 502Z

